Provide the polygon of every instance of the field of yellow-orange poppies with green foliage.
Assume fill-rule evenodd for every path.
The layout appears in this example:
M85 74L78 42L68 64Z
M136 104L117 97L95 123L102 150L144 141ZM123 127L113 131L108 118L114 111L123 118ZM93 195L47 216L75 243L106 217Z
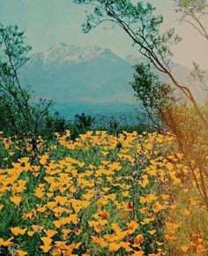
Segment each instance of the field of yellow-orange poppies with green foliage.
M207 255L207 212L173 137L66 131L16 159L1 136L0 255Z

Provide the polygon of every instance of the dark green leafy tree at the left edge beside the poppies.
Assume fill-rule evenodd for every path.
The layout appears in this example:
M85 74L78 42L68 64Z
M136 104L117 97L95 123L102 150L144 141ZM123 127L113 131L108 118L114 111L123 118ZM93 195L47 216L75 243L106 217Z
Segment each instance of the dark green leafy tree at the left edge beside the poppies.
M33 94L20 85L19 69L26 64L30 49L18 26L0 24L0 129L15 136L25 150L30 141L36 151L51 102L33 102Z

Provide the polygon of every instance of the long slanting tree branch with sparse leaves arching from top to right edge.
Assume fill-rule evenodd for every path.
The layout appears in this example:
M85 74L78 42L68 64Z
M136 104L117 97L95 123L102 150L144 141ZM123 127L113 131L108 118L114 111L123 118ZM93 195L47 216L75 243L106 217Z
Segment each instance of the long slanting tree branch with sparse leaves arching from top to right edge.
M175 35L174 28L167 30L166 33L160 33L163 17L154 15L155 8L152 4L144 4L142 1L133 4L128 0L74 0L74 2L93 6L93 11L87 14L83 24L85 33L105 21L120 26L130 36L139 53L145 56L157 70L167 74L173 85L189 99L197 115L208 128L208 122L198 108L189 87L180 84L169 68L173 56L170 46L182 39Z

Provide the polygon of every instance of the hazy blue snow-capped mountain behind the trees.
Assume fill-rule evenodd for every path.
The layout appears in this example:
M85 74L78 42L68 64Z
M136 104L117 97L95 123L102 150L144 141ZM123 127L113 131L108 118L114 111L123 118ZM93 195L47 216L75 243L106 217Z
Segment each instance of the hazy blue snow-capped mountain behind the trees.
M132 65L138 62L145 60L135 56L123 59L98 46L79 47L62 42L33 54L20 75L37 98L55 101L65 116L76 112L129 111L138 106L130 87ZM182 82L187 81L188 68L174 64L174 72Z

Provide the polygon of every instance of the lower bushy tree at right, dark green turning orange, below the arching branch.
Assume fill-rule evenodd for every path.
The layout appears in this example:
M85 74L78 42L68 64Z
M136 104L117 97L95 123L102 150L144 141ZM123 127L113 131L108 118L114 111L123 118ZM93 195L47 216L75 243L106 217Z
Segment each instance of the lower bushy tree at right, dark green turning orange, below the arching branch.
M207 141L208 132L197 116L196 109L175 94L175 90L160 82L150 64L137 64L134 79L131 83L137 99L142 102L152 122L159 127L166 125L172 136L175 136L180 151L185 157L189 170L194 177L197 191L208 209L207 176ZM201 109L204 116L208 106ZM191 180L191 178L190 178Z

